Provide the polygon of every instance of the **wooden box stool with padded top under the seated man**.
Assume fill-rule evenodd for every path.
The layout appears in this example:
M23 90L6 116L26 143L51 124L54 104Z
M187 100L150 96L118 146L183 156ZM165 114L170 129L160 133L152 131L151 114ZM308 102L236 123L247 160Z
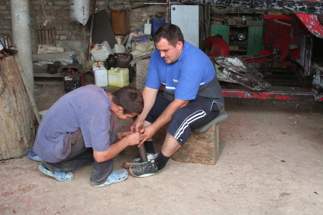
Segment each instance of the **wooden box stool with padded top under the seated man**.
M196 128L186 143L173 155L174 161L215 164L224 147L219 141L219 122L228 118L222 111L208 124Z

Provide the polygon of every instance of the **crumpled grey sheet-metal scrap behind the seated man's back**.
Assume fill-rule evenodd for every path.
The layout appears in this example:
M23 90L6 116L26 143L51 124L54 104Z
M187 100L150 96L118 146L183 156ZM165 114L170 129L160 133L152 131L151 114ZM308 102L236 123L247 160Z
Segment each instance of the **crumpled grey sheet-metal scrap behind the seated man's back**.
M220 81L239 83L255 91L269 91L271 85L264 76L244 60L232 56L210 57Z

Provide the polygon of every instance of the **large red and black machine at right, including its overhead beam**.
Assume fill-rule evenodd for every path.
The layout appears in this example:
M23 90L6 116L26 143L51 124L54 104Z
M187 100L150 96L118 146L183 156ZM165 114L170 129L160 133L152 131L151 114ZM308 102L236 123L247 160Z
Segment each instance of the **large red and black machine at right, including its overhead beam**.
M244 59L248 63L279 59L295 71L301 84L311 92L239 91L223 89L225 97L323 101L323 7L322 0L241 1L173 0L173 3L215 5L254 10L283 11L295 15L265 15L261 56ZM213 48L214 44L212 44ZM214 48L213 48L214 49ZM315 57L313 57L315 56ZM237 71L240 73L240 71Z

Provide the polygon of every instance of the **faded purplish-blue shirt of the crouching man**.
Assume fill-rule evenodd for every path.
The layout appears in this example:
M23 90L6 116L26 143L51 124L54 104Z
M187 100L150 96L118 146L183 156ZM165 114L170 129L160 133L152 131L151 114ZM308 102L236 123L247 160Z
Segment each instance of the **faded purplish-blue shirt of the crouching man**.
M111 101L96 85L73 90L58 99L38 127L33 150L43 160L55 163L71 152L67 137L82 131L85 146L103 152L110 145Z

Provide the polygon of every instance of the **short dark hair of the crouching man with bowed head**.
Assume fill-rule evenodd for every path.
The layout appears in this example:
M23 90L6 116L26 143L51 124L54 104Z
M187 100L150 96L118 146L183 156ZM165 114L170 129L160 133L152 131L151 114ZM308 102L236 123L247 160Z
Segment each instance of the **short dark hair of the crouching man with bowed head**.
M113 92L112 101L116 105L123 107L123 114L141 114L144 109L142 92L131 86L126 86Z

